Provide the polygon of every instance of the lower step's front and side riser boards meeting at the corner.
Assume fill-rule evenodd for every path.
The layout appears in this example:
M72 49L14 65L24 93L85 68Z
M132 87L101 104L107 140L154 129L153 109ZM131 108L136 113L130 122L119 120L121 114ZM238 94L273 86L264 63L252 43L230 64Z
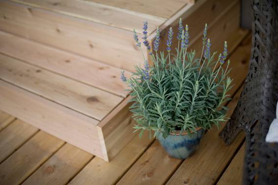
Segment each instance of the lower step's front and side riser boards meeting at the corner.
M106 161L135 136L129 106L124 101L121 114L107 116L98 126L94 119L0 80L1 110Z

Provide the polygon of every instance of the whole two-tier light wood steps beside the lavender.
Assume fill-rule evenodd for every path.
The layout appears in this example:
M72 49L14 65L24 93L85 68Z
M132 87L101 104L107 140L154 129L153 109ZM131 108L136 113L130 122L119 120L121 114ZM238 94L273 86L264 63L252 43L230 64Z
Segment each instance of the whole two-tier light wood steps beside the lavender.
M208 23L212 49L219 51L224 40L233 51L247 33L240 29L239 0L189 1L162 0L154 12L146 8L154 0L143 0L144 8L137 0L132 6L126 0L119 5L113 0L0 1L0 109L101 159L112 159L136 135L130 97L119 79L122 69L133 71L143 62L132 26L147 19L150 42L156 26L164 42L166 28L176 29L181 17L192 27L191 49L198 49ZM202 26L194 26L196 15ZM145 47L142 52L148 55Z

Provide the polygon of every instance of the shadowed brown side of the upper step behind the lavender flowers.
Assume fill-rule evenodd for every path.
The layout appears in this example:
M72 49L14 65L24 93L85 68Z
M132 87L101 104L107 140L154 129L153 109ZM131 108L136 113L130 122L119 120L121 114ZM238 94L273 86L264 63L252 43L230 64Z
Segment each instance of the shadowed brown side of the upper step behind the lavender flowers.
M189 26L189 49L196 50L197 56L202 52L202 34L204 25L208 24L207 36L211 39L211 51L222 51L224 41L228 42L228 49L231 51L236 42L240 40L243 34L247 31L238 31L240 28L240 4L239 0L198 0L190 9L183 13L180 18L183 24ZM172 50L177 47L177 27L179 17L176 20L169 20L165 22L160 29L161 32L161 45L160 51L166 50L166 41L168 30L173 28L175 36L173 37ZM153 40L155 33L150 35ZM201 51L200 51L201 50Z

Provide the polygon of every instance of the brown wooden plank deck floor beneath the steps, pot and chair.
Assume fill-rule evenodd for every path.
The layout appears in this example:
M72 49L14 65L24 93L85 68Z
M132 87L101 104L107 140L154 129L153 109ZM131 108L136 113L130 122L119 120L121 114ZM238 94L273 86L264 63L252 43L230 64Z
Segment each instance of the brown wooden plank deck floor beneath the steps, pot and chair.
M228 116L240 96L251 52L250 33L242 30L240 35L229 52L233 68L230 76L235 86L230 91L233 100L227 105ZM168 157L158 141L144 135L142 139L135 136L115 158L105 162L4 112L2 108L0 185L239 185L241 182L244 134L240 133L226 146L218 136L224 124L220 130L214 127L206 132L198 151L186 160Z

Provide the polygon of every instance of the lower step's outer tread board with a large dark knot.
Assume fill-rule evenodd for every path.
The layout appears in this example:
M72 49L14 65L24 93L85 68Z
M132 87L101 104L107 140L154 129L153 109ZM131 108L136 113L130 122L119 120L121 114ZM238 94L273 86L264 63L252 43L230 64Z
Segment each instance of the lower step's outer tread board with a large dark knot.
M0 79L101 121L123 98L0 54Z

